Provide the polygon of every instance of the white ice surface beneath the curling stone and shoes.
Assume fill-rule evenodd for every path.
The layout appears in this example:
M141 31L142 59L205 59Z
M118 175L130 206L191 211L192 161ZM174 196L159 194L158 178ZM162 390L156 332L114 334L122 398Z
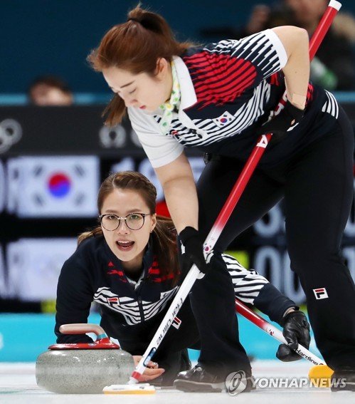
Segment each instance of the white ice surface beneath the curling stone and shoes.
M253 375L255 378L307 378L309 368L307 361L282 363L279 361L255 361ZM100 401L98 401L100 400ZM354 404L355 393L332 393L329 388L260 388L251 393L237 396L228 393L183 393L178 390L157 390L154 395L89 395L89 394L55 394L38 388L36 384L35 363L1 363L0 362L0 403L1 404ZM236 400L236 401L235 401Z

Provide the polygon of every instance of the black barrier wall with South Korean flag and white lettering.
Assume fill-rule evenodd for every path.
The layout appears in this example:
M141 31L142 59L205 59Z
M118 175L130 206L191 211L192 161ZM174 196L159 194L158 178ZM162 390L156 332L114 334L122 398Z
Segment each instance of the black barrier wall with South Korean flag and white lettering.
M355 104L344 108L354 124ZM0 311L53 311L60 268L74 252L78 234L97 224L97 190L109 172L142 172L156 185L158 207L166 212L161 186L129 122L106 128L103 109L1 108ZM203 155L194 149L186 154L197 180ZM242 264L302 304L284 224L281 203L230 249ZM342 251L355 279L354 217L346 226Z

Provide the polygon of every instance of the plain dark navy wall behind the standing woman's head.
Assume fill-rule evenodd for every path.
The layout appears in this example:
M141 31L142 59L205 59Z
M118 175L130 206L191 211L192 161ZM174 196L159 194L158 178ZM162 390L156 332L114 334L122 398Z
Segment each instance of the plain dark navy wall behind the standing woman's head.
M107 93L86 56L103 34L125 21L137 0L1 0L1 93L26 93L41 73L66 79L75 93ZM162 14L177 36L203 41L201 30L215 24L243 24L257 1L143 1Z

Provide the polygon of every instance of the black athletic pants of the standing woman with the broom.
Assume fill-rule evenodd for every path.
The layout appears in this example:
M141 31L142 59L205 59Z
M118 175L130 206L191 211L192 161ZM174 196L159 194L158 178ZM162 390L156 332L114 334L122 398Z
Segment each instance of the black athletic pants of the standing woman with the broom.
M329 121L328 133L324 133L325 126L319 126L319 123L314 129L323 128L322 138L272 169L263 165L257 167L218 239L215 251L225 251L238 234L284 198L291 268L300 276L307 296L317 347L332 368L355 368L355 286L340 256L341 237L354 194L354 133L342 110L337 122L330 117L324 120ZM243 162L233 158L215 156L203 170L197 185L199 229L203 240L243 167ZM202 351L201 357L206 355L208 361L234 358L243 368L245 352L238 347L238 340L231 346L229 338L238 329L230 284L228 277L221 276L219 287L226 288L226 299L212 295L213 304L217 305L218 299L221 302L214 307L213 313L223 312L223 318L214 328L206 321L211 304L195 297L191 298L191 304L199 326L201 347L206 340L206 347L213 349L208 353ZM203 288L203 284L198 287ZM327 299L316 299L314 289L322 288L327 291Z

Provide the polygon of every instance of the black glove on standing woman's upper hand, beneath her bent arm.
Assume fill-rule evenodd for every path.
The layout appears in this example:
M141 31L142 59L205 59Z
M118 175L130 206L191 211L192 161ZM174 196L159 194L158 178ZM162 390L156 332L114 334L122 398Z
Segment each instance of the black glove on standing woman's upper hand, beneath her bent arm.
M295 107L295 105L292 105L287 100L281 112L275 118L268 120L267 123L257 128L256 134L265 135L266 133L272 133L272 138L280 141L286 135L287 130L292 130L300 122L303 113L304 110L300 110L300 108ZM275 140L273 140L273 143L275 143Z

